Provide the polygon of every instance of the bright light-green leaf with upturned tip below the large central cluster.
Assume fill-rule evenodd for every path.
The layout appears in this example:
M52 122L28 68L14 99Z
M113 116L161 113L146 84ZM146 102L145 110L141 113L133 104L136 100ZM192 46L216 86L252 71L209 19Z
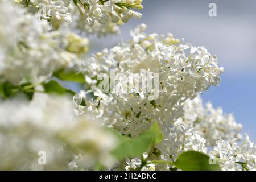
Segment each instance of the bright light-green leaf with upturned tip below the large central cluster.
M149 151L152 146L162 141L163 134L155 122L148 131L145 131L137 138L129 138L122 135L119 138L121 138L121 143L112 151L112 154L115 158L121 160L125 156L139 156L143 152Z

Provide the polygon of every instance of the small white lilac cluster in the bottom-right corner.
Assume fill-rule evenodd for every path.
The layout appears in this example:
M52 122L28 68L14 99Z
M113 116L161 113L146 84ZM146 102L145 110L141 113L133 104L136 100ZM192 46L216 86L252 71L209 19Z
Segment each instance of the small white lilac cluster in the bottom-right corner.
M245 134L241 144L233 141L218 140L213 150L209 152L212 162L218 163L222 170L248 171L256 170L256 145Z

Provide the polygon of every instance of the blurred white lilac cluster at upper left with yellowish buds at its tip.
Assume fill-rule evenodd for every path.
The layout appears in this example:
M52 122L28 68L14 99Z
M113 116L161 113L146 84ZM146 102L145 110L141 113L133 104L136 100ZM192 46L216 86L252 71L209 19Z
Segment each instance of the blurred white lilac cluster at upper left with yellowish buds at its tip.
M0 3L0 16L1 81L36 82L57 69L73 67L88 50L87 38L68 30L49 31L46 21L11 2Z

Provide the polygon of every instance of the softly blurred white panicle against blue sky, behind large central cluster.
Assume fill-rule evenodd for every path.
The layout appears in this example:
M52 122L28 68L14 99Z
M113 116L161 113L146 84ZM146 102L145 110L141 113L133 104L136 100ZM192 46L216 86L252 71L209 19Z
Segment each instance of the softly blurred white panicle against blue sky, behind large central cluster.
M180 118L185 126L193 127L208 146L214 146L220 137L228 141L242 138L242 125L234 120L233 114L223 113L221 107L214 109L210 102L203 107L202 102L200 97L185 101L184 116Z

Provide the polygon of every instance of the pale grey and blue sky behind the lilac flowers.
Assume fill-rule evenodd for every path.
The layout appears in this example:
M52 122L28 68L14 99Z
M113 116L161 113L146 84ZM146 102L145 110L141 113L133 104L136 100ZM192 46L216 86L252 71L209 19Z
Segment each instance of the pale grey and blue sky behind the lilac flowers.
M210 2L217 5L217 17L208 15ZM94 38L93 49L100 51L130 39L130 29L140 23L147 24L148 33L171 32L193 46L205 46L217 55L225 73L219 87L203 92L204 101L233 113L243 124L243 133L256 142L256 1L144 0L142 4L141 19L124 24L119 36Z

